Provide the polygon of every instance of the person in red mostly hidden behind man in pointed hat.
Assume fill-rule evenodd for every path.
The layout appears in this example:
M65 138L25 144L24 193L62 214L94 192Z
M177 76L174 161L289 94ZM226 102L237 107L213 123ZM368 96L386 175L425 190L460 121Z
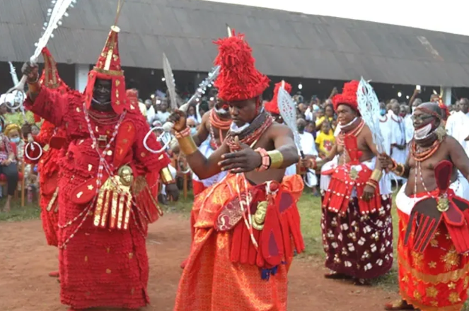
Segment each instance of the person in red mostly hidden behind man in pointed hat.
M69 86L59 76L57 64L55 63L49 49L42 49L42 57L44 57L44 69L39 83L42 87L54 90L60 94L69 92ZM35 116L37 122L40 118ZM48 245L58 246L58 221L59 221L59 169L60 158L63 156L62 147L65 144L65 130L55 127L54 124L44 121L39 134L34 137L34 141L41 148L34 148L34 144L25 145L25 160L28 163L37 164L37 172L39 173L39 191L40 191L40 207L42 228ZM42 149L42 155L40 151ZM66 148L65 148L66 149ZM58 277L58 271L52 271L49 274Z

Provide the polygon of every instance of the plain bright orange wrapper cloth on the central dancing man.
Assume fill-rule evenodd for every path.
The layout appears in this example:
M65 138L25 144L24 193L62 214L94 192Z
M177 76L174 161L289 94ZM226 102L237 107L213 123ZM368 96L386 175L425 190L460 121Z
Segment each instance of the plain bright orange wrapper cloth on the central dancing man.
M267 269L261 269L259 264L265 264L269 267L268 262L272 258L262 257L265 262L259 262L260 256L256 253L252 242L244 243L246 240L250 241L249 234L246 239L241 238L243 242L241 246L233 242L236 230L239 230L240 226L245 226L243 219L238 223L233 223L231 227L228 223L228 228L231 230L219 228L217 231L215 229L217 216L219 216L221 209L233 201L233 197L237 196L236 183L238 183L241 194L245 194L241 177L228 175L225 180L209 187L195 198L192 209L192 216L195 219L195 237L180 279L175 311L286 310L286 274L293 257L293 247L301 252L304 248L303 240L294 237L291 241L290 235L288 235L283 244L291 244L289 249L277 243L284 250L282 264L274 267L268 281L262 279L262 274ZM265 184L248 187L250 190L265 189ZM294 214L298 213L296 201L303 191L303 181L298 175L285 177L282 184L279 184L278 190L279 193L289 194L292 199L291 211L282 213L282 208L278 209L280 211L278 214L279 226L282 227L287 222L292 223L292 219L295 218ZM271 198L270 203L275 202L275 206L278 207L281 204L279 201L277 196ZM274 212L269 210L272 207L270 204L267 209L264 230L269 228L268 222L274 223L272 221L272 213ZM289 230L296 229L290 227ZM262 233L263 230L254 230L254 235L259 237L257 239L257 242L260 243L259 252L263 252L262 238L260 238ZM298 237L298 233L299 229L291 235ZM301 233L299 234L301 237ZM240 247L242 249L241 258L233 260L233 254L236 253L234 250Z

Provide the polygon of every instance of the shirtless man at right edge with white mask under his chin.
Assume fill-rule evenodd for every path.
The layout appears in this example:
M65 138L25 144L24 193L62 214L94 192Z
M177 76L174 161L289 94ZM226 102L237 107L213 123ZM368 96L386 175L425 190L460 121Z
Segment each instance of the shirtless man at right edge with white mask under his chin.
M438 102L418 105L406 162L380 156L383 168L407 178L395 199L402 299L386 310L459 311L468 299L469 158L446 134L447 116Z

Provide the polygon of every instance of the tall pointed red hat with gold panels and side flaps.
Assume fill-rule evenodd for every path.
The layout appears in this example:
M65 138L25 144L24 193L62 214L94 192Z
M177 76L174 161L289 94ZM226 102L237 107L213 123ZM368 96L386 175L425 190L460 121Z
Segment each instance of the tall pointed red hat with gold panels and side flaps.
M112 110L120 115L125 109L128 109L128 102L125 95L124 71L122 71L120 67L119 32L119 27L111 27L103 52L101 52L98 61L96 62L96 66L94 66L93 70L88 74L88 83L86 84L85 90L85 102L86 108L89 108L91 105L91 99L93 98L93 88L97 78L110 80L112 82Z

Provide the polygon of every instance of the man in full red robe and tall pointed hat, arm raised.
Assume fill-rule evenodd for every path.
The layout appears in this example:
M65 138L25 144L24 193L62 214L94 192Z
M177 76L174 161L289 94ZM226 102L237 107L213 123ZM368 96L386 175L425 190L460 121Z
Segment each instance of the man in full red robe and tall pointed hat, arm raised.
M42 88L37 66L23 65L25 106L64 127L69 143L59 177L59 266L60 296L70 310L149 303L146 228L161 211L144 175L159 171L173 182L167 156L144 147L149 126L127 100L119 31L112 26L84 94ZM147 143L161 148L155 136Z

